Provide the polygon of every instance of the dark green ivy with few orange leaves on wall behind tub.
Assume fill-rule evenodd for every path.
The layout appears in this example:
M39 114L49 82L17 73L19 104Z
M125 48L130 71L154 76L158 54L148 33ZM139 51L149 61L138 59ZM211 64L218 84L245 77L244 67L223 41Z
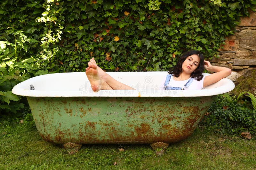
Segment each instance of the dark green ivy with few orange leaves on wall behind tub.
M44 17L61 17L48 21L47 29L61 30L62 37L47 53L55 52L51 62L57 72L84 71L91 57L107 71L165 71L186 50L199 50L206 58L216 56L224 38L233 34L239 17L247 15L253 4L228 0L48 1L52 14Z

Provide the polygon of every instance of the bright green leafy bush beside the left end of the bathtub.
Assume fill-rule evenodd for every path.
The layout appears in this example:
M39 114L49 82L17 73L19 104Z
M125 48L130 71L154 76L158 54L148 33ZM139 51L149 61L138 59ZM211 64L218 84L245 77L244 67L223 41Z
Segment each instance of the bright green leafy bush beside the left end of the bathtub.
M19 102L21 97L12 94L11 90L19 82L36 75L33 71L38 69L35 58L23 59L23 55L27 54L33 44L38 41L28 38L23 31L15 32L12 29L7 29L6 35L13 36L14 42L0 41L0 59L2 61L0 89L3 90L0 91L0 111L2 115L5 113L17 114L18 110L24 109L24 104Z

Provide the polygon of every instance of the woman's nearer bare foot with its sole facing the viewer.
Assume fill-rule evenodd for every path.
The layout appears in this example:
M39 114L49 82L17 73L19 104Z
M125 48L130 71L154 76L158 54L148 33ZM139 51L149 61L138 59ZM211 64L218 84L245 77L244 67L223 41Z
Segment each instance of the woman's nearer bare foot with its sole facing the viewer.
M88 64L89 65L89 64ZM107 90L112 89L108 84L102 80L102 78L99 76L97 65L92 64L89 67L85 68L85 74L87 75L88 80L91 83L92 90L97 92L99 90Z

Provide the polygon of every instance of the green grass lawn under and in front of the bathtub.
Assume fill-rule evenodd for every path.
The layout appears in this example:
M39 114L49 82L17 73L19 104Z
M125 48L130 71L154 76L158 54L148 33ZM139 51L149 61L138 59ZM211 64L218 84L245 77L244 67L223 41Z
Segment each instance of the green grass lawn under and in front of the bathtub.
M223 136L202 126L161 156L148 144L83 145L68 155L63 146L45 142L33 122L11 122L0 123L0 169L256 169L254 139Z

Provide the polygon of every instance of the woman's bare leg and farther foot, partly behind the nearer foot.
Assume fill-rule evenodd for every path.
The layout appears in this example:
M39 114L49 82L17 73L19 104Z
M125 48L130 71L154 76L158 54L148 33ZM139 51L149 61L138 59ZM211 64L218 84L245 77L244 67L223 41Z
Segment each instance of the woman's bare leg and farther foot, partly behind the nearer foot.
M92 66L93 64L96 64L96 61L94 60L94 58L92 58L89 63L88 66ZM100 75L100 77L114 90L134 90L132 87L127 86L124 83L121 83L117 80L115 80L113 77L111 77L109 74L105 73L105 71L103 71L99 66L97 66L97 70L98 73Z

